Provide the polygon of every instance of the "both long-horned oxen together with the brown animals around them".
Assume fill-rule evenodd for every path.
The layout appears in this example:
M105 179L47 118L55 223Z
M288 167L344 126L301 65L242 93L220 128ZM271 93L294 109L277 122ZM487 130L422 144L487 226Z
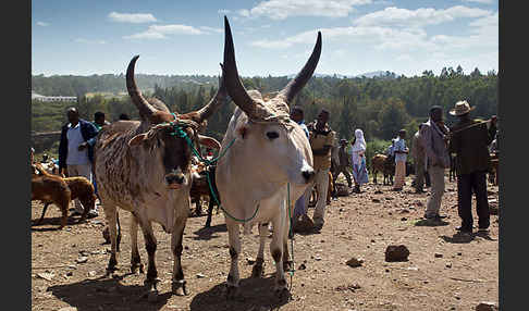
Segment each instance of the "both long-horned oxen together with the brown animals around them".
M107 271L112 273L119 261L121 234L116 227L118 211L128 211L132 214L130 266L133 273L138 269L144 271L137 245L139 225L148 254L146 284L149 297L158 295L157 284L160 281L152 222L171 234L173 294L187 295L181 262L182 240L192 200L200 212L200 196L210 196L206 226L211 223L217 200L222 202L231 258L227 298L234 297L239 287L239 225L244 226L245 234L253 226L258 227L260 242L253 276L260 277L271 224L270 253L276 268L273 290L279 296L287 293L285 271L291 269L292 263L286 247L290 224L287 200L293 203L315 178L309 140L300 126L290 119L290 104L316 70L321 54L321 34L318 33L312 53L296 77L274 97L268 98L257 90L247 90L243 85L226 17L224 32L219 90L204 108L171 112L160 100L145 98L134 78L136 55L126 71L126 88L140 120L118 121L106 126L95 145L94 172L111 244ZM236 104L236 109L222 142L199 134L208 117L229 100ZM221 157L217 163L194 163L194 152L204 145L219 149ZM391 183L394 167L384 157L377 154L372 159L372 173L374 182L377 172L383 173L386 184ZM66 224L71 200L79 198L85 211L95 204L94 187L86 178L62 178L50 174L42 165L35 164L33 167L32 200L46 203L40 221L49 203L60 207L61 227ZM214 196L210 194L208 178L212 182ZM85 217L86 212L79 221Z

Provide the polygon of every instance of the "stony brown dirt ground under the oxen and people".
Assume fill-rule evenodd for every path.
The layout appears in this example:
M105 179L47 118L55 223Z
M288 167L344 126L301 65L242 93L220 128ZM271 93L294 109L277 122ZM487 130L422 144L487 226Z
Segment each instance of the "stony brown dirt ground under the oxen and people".
M204 228L205 216L187 221L182 262L190 293L185 297L171 295L170 235L155 224L161 282L158 300L149 302L142 297L145 274L130 273L127 212L120 213L120 270L112 277L104 275L110 245L103 244L101 235L102 209L96 219L77 224L76 217L71 217L65 228L57 231L60 211L50 207L44 223L32 226L32 310L475 310L481 301L497 303L499 216L491 215L488 235L457 234L457 189L446 177L441 208L441 214L447 215L445 223L421 225L429 194L414 194L411 177L401 192L370 183L361 194L339 197L327 207L321 233L295 234L296 271L292 278L287 275L291 299L279 299L272 291L275 268L268 245L264 276L250 278L248 259L254 259L258 249L254 228L251 235L242 235L241 297L226 301L230 254L221 214L213 215L209 229ZM497 207L497 187L489 185L488 189L491 206ZM34 201L33 223L41 211L42 204ZM312 213L309 209L310 216ZM475 200L472 214L477 226ZM142 234L138 245L147 264ZM408 261L386 262L389 245L405 245L410 252ZM362 265L348 266L352 258L364 260Z

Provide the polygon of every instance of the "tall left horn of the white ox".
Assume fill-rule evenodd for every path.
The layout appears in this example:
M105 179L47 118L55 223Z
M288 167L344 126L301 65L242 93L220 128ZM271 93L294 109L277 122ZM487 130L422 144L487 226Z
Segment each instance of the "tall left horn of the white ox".
M237 64L235 63L235 49L233 48L232 30L227 17L224 16L224 65L223 75L226 84L227 94L249 117L256 115L256 103L249 97L238 77Z

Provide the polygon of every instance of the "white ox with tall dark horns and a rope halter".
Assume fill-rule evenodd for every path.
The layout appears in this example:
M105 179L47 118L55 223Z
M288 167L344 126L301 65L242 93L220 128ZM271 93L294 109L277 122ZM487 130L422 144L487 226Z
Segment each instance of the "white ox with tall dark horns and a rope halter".
M284 270L288 269L287 250L288 210L287 184L291 204L304 194L312 182L312 151L298 124L290 119L288 103L310 79L321 53L321 34L304 69L288 85L270 100L263 100L257 90L247 91L237 73L233 39L227 18L224 17L225 42L223 76L227 94L237 105L222 140L221 153L226 153L217 165L217 187L221 197L227 226L231 268L227 275L227 298L237 295L241 253L238 220L246 222L245 233L259 224L260 245L253 276L262 274L263 249L268 223L273 226L270 252L275 262L274 289L279 295L287 291ZM234 140L235 139L235 140ZM229 145L234 140L232 147ZM292 207L292 206L291 206Z

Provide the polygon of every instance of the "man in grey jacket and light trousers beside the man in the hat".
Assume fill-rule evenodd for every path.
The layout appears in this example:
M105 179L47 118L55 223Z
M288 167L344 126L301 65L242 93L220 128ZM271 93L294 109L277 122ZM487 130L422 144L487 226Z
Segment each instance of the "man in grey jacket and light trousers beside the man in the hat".
M431 221L442 219L439 210L444 195L444 172L450 167L447 135L448 127L444 125L443 109L434 105L430 109L430 119L422 123L420 129L420 141L427 154L425 165L431 182L431 195L428 199L425 217Z

